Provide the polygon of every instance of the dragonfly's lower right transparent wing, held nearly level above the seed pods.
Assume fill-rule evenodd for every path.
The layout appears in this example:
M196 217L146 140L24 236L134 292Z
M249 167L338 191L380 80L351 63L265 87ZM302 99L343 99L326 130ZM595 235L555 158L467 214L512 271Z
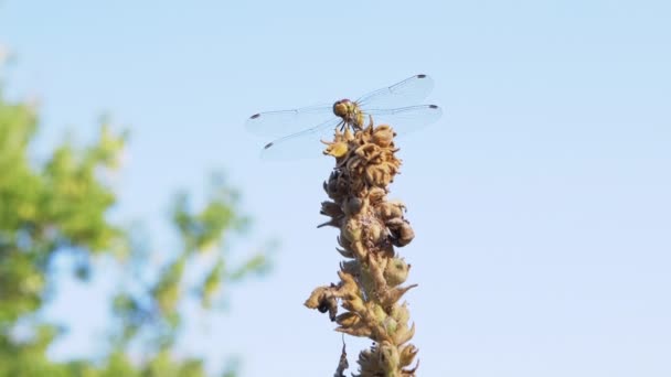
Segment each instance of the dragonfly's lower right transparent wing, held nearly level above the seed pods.
M390 125L400 136L422 129L443 116L443 109L437 105L419 105L397 109L372 109L365 112L373 117L376 126Z

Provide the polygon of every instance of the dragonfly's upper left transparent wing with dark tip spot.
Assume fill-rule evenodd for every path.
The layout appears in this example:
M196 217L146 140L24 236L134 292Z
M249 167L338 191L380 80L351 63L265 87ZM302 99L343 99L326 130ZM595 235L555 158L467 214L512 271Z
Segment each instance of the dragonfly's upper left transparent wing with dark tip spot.
M334 117L333 105L317 105L294 110L255 114L247 119L245 128L254 134L279 138L315 127Z

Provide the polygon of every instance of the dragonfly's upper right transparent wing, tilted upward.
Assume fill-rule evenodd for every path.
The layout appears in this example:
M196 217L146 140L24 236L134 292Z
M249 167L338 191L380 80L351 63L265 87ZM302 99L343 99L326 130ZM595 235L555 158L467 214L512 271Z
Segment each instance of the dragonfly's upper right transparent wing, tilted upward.
M386 88L377 89L359 98L356 104L362 109L388 109L417 105L434 88L434 80L427 75L415 75Z

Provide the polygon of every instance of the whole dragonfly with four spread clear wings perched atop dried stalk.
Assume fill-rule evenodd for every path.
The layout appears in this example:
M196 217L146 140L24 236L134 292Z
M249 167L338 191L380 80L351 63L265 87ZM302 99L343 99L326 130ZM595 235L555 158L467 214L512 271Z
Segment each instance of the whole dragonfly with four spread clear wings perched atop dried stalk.
M340 99L333 105L317 105L291 110L258 112L246 121L251 133L275 138L262 150L268 160L294 160L321 155L320 140L334 130L363 129L369 119L392 126L403 136L440 118L437 105L417 105L434 88L427 75L414 75L394 85L371 91L356 100Z

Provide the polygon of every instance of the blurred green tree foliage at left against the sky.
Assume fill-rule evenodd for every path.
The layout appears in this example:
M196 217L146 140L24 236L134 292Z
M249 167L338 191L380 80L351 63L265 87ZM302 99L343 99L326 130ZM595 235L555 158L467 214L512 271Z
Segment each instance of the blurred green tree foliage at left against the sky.
M193 208L187 194L175 195L170 220L181 243L157 270L138 235L107 216L116 196L104 173L119 168L126 136L103 122L93 144L64 142L35 163L29 151L39 129L36 110L28 103L8 101L0 91L0 377L203 376L202 360L172 356L184 321L179 303L195 299L210 309L225 282L268 268L262 251L233 267L221 251L225 235L247 228L238 194L214 181L201 208ZM109 303L115 317L109 338L103 341L110 351L102 362L55 363L46 357L61 331L35 314L53 295L50 268L63 252L79 261L74 274L82 283L97 272L92 261L102 256L114 257L127 273ZM205 252L215 262L202 281L187 287L185 272L202 270L194 259ZM147 362L131 363L126 352L131 346Z

